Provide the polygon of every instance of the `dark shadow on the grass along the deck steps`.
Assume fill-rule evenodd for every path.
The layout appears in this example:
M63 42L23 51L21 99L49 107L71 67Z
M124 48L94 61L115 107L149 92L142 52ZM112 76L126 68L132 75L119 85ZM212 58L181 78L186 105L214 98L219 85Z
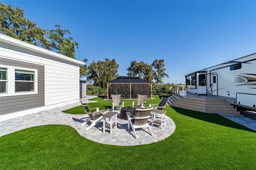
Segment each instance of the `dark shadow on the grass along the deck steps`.
M202 121L206 121L209 123L214 123L217 125L236 128L236 129L240 129L240 130L246 130L246 131L250 131L250 132L256 132L250 128L244 127L243 125L240 125L240 124L233 122L225 117L222 117L216 113L202 113L202 112L191 111L188 109L182 109L182 108L178 108L178 107L172 107L172 109L174 109L177 113L180 113L182 115L192 117L195 119L199 119Z

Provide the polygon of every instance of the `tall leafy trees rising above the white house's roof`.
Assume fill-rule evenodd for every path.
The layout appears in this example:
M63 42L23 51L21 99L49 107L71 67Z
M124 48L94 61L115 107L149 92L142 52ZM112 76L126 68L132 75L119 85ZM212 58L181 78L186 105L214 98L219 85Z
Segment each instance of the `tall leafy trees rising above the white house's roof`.
M23 15L19 6L12 8L0 2L0 33L75 59L78 42L66 38L68 30L61 30L59 25L55 25L56 30L44 30Z

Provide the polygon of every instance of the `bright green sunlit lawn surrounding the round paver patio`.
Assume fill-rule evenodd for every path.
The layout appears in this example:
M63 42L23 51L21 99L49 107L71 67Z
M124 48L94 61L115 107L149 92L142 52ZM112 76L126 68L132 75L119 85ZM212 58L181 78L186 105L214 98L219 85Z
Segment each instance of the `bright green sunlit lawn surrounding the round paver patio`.
M147 103L159 103L149 99ZM89 107L110 108L96 98ZM125 100L131 106L132 100ZM256 132L217 114L167 106L176 124L168 138L147 145L92 142L65 125L33 127L0 137L0 169L256 169ZM79 106L65 113L84 114Z

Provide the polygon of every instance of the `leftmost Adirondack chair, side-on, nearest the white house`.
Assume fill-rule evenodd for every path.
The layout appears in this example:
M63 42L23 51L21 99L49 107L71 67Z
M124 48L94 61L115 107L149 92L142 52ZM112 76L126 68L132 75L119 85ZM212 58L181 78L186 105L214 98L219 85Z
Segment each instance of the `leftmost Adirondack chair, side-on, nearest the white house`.
M89 115L88 119L84 123L81 124L81 126L85 125L88 122L91 122L92 124L86 128L85 131L89 130L90 128L94 127L99 121L103 119L102 115L106 112L106 110L99 111L99 107L89 108L87 103L82 103L82 106L84 107L85 113ZM96 112L91 112L91 110L96 109Z

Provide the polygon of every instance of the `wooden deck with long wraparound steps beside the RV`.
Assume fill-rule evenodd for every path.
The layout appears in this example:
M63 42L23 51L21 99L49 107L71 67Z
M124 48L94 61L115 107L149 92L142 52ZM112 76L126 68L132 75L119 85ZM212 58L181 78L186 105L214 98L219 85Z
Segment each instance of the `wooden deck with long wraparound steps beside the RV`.
M180 91L179 94L172 93L168 105L203 113L240 114L225 99L210 95L186 93L186 91Z

